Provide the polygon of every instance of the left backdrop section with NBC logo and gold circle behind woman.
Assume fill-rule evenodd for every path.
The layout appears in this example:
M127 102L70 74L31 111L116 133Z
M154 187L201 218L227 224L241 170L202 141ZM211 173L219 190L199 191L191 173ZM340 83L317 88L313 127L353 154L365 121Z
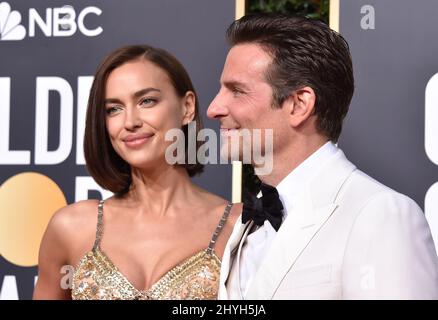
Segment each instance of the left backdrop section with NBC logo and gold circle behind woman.
M107 197L82 152L98 63L113 49L150 44L173 53L199 94L206 127L227 53L235 1L0 0L0 299L30 299L51 215ZM195 179L231 197L231 166ZM80 232L80 231L78 231Z

